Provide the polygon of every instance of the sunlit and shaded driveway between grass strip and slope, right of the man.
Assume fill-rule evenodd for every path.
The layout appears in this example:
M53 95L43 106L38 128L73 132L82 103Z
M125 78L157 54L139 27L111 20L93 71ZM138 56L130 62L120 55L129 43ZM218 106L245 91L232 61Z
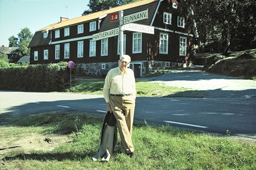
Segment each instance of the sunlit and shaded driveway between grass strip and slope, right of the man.
M184 87L203 91L204 97L256 97L256 81L237 77L211 74L202 71L201 67L180 68L157 77L139 78L161 82L170 87Z

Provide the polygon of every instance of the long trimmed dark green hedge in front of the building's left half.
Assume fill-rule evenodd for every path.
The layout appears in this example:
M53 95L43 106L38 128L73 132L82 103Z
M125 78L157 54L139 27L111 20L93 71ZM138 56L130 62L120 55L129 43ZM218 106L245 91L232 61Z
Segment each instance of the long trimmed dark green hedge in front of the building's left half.
M0 90L64 91L69 86L67 62L0 68Z

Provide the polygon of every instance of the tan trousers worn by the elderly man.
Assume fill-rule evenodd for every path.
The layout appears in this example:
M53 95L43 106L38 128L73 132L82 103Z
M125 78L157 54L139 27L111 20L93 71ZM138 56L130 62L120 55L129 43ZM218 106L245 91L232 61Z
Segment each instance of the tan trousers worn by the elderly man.
M133 96L110 96L110 105L116 117L122 145L126 153L131 153L134 151L131 133L133 129L135 99Z

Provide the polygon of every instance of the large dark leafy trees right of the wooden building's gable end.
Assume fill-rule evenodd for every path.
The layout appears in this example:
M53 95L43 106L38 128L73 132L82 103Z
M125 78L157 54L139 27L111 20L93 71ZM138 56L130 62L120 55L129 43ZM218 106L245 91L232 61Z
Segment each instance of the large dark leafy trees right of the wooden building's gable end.
M184 1L184 0L183 0ZM199 49L255 48L256 2L250 0L187 0L199 31Z

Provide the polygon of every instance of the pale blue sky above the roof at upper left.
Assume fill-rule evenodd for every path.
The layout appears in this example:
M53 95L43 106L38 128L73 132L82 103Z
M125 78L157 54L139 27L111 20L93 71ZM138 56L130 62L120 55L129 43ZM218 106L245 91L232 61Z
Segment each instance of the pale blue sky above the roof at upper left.
M80 17L88 4L89 0L0 0L0 46L8 47L8 38L17 37L25 27L34 35L60 22L60 17Z

